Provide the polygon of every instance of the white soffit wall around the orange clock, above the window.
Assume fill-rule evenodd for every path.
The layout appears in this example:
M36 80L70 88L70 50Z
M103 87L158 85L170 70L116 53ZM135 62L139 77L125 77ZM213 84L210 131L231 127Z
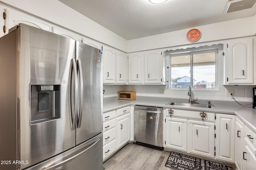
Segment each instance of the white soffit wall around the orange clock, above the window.
M256 33L256 16L194 28L199 29L202 33L202 37L197 43L250 36ZM189 42L186 40L186 34L190 29L192 28L128 40L127 51L134 52L187 45Z

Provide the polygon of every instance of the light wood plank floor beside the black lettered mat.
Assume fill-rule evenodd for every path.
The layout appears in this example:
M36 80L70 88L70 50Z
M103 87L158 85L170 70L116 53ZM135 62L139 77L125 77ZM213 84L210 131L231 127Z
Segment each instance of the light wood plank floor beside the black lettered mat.
M171 170L165 167L170 152L128 143L103 163L105 170Z

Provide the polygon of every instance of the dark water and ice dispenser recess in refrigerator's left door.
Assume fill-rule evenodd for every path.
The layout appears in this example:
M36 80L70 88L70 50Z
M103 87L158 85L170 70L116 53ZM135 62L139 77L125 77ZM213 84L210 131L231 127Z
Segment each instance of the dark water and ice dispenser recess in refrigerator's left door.
M31 124L60 118L60 85L31 86Z

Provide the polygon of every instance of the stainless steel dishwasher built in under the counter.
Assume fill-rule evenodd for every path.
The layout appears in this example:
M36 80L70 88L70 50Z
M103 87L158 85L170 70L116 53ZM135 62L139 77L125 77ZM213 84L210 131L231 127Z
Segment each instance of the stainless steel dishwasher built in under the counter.
M163 149L163 108L134 106L134 140Z

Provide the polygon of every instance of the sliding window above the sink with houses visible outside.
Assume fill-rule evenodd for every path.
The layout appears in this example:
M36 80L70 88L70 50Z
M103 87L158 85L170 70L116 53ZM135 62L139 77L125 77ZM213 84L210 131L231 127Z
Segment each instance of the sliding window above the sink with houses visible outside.
M218 89L218 46L170 52L170 88Z

